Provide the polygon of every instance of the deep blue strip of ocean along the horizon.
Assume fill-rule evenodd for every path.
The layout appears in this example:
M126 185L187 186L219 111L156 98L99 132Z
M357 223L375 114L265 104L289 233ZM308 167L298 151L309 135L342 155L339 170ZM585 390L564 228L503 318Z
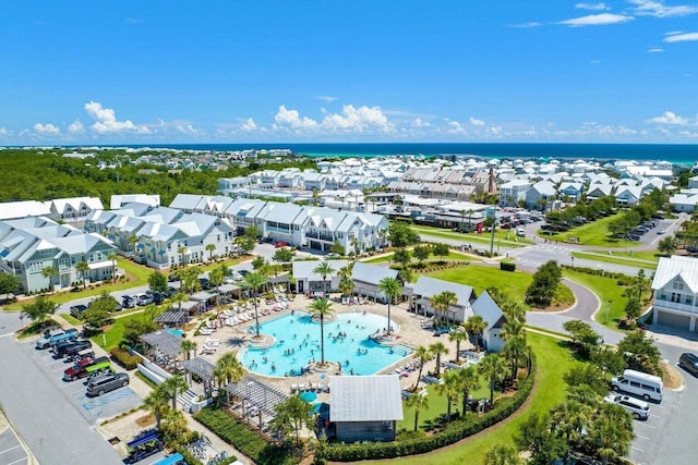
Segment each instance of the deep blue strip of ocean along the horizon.
M390 155L472 155L483 158L555 158L585 160L663 160L674 164L698 161L698 144L174 144L128 147L190 150L290 149L315 157L380 157Z

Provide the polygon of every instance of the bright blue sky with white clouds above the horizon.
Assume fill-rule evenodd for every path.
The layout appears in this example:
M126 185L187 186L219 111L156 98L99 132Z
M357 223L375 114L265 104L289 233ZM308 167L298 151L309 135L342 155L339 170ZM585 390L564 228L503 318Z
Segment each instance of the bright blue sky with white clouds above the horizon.
M0 145L698 143L698 3L8 1Z

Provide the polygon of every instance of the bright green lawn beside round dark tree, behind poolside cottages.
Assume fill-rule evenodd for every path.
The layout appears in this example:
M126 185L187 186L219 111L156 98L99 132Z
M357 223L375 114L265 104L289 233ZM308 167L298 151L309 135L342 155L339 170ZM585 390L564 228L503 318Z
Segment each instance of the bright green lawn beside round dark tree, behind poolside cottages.
M425 273L431 278L457 282L472 286L478 294L488 287L497 287L515 302L524 303L526 290L533 280L532 274L520 271L502 271L498 268L465 266ZM561 286L556 303L563 306L571 305L575 297L567 286ZM526 308L529 308L524 304Z

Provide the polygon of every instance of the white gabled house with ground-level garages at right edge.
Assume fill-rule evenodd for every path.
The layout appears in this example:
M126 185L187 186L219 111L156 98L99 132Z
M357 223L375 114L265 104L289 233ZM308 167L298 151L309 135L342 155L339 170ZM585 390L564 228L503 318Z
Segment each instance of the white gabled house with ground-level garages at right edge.
M661 257L652 280L653 322L696 331L698 258Z

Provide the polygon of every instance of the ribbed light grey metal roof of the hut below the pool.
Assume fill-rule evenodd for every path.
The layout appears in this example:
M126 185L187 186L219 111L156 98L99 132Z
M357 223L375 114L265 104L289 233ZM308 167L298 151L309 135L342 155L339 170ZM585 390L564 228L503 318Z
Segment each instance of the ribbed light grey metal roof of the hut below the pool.
M330 421L402 419L400 378L397 375L333 376L329 382Z

